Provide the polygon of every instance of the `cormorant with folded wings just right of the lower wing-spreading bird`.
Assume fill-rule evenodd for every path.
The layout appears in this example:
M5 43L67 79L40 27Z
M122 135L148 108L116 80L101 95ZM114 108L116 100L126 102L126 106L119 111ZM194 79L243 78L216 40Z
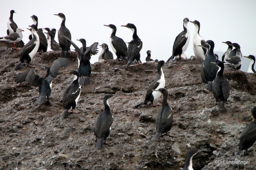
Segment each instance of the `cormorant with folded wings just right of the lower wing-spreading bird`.
M76 106L77 102L80 98L81 94L81 86L78 83L78 72L75 70L72 70L68 72L70 75L74 76L74 80L70 86L65 89L62 97L63 107L64 107L64 113L62 115L62 119L67 118L68 116L68 110L72 107L72 112L76 112ZM76 112L79 113L79 112Z

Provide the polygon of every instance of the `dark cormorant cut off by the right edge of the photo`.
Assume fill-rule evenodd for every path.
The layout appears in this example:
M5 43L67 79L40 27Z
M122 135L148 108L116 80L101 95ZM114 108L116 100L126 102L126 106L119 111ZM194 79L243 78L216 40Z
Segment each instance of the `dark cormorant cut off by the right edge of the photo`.
M249 155L248 149L253 146L256 141L256 107L253 107L251 112L255 120L245 127L239 137L240 142L237 152L238 155L240 155L242 150L246 150L246 154Z

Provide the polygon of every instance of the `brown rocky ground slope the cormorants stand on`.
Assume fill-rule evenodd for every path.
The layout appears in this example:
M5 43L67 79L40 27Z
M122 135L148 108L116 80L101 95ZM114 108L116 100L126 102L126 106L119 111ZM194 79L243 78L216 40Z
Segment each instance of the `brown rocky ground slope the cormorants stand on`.
M53 80L50 102L38 105L38 87L15 84L15 76L30 68L12 71L20 51L0 44L0 170L182 170L190 148L206 150L194 156L194 170L256 169L256 152L235 156L239 135L253 121L256 105L256 75L225 70L231 86L224 111L218 110L212 92L200 78L201 61L165 63L168 103L174 111L171 134L152 141L159 107L151 104L132 108L144 100L147 87L157 76L156 64L125 67L123 61L92 64L91 84L83 86L77 110L62 120L62 94L73 80L65 75L77 69L76 53L71 63ZM36 55L31 64L44 76L60 52ZM93 56L94 57L94 56ZM161 59L161 58L159 58ZM94 121L103 111L103 96L111 98L114 116L109 140L103 150L95 149ZM161 103L162 97L158 100ZM215 164L215 161L250 161L249 164Z

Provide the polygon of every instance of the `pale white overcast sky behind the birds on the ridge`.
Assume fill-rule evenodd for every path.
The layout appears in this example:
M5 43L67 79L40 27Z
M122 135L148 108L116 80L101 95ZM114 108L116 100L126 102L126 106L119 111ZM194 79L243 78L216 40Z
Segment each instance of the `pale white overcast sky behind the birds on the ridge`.
M125 42L132 40L132 31L121 25L133 23L137 34L143 41L141 61L145 62L147 50L151 58L167 61L172 54L176 36L183 30L183 19L198 20L201 24L200 35L205 40L215 42L214 52L221 57L227 50L222 41L230 40L241 46L243 56L256 56L256 1L255 0L25 0L1 1L0 36L6 35L10 11L15 10L13 20L25 30L23 41L27 43L31 34L30 16L38 17L38 27L59 30L61 18L53 14L62 12L66 16L66 27L70 30L72 41L81 47L77 39L84 38L87 46L94 42L107 43L114 58L109 37L112 29L103 26L114 24L116 35ZM190 43L185 54L194 55L192 40L194 24L188 23ZM58 41L57 35L55 40ZM74 49L71 46L71 49ZM91 63L98 60L92 56ZM249 59L242 59L242 71L249 66ZM33 61L32 61L33 62Z

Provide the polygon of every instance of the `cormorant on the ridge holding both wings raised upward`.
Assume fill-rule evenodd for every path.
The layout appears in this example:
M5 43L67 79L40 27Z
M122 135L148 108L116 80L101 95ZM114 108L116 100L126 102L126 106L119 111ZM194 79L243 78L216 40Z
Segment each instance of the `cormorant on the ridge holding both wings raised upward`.
M90 84L90 78L89 76L91 75L91 55L96 55L98 53L97 50L97 46L98 46L98 42L95 42L93 44L91 44L91 46L86 47L86 41L85 39L81 38L79 39L80 42L82 42L82 52L79 49L79 47L72 42L71 40L68 39L68 37L63 36L66 40L68 40L72 46L75 47L78 56L77 56L77 60L78 60L78 75L80 77L80 84L81 85L89 85ZM86 49L86 50L85 50Z

